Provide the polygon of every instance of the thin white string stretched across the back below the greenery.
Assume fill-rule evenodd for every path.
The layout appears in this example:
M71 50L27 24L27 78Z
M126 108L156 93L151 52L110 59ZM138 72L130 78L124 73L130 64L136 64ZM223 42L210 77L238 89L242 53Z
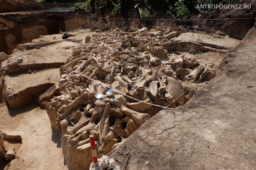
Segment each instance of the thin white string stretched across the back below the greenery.
M64 12L67 14L72 14L68 12ZM90 18L103 18L103 19L114 19L114 18L107 18L107 17L91 17L87 15L79 15L79 14L72 14L78 15L82 17L90 17ZM179 19L132 19L132 18L115 18L116 20L152 20L152 21L197 21L197 20L243 20L243 19L255 19L255 18L220 18L220 19L186 19L186 20L179 20Z

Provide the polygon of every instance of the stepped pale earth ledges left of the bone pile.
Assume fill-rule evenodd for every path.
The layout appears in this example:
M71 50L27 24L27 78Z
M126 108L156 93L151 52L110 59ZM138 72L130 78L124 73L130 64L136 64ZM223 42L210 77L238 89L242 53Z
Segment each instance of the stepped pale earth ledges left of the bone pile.
M88 34L92 34L92 32L88 29L84 29L69 34L73 38L81 39ZM35 42L42 39L53 41L53 37L55 37L56 39L54 41L56 41L56 43L40 47L39 49L16 49L15 52L9 56L8 60L2 62L2 69L7 72L7 75L3 77L2 83L4 84L3 87L6 89L6 96L20 96L24 93L29 93L28 91L30 91L33 96L47 90L46 88L50 84L55 84L56 89L58 89L58 81L60 78L58 68L66 62L68 56L72 54L75 47L84 43L84 41L82 41L82 43L76 43L66 40L59 42L62 40L62 35L63 34L47 35L44 38L32 40ZM27 45L31 45L31 43L27 43ZM12 62L17 61L17 58L22 58L23 62L18 65L13 65ZM36 72L29 74L29 69ZM41 89L35 90L35 88L40 88L40 86ZM31 95L27 96L26 100L30 100L30 102L32 102ZM20 104L8 101L12 108L20 108L18 105L23 106L22 102L18 100L17 102ZM28 101L23 101L24 105L25 102Z

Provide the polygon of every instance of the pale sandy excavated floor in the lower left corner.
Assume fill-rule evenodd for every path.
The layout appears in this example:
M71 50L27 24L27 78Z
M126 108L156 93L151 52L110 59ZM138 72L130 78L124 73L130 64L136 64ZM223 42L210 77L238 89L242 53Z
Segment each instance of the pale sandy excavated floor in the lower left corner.
M2 162L1 170L67 169L58 132L51 129L45 110L29 105L18 111L11 111L5 103L1 103L0 129L9 135L20 135L23 140L20 149L15 150L16 159L9 165L10 161Z

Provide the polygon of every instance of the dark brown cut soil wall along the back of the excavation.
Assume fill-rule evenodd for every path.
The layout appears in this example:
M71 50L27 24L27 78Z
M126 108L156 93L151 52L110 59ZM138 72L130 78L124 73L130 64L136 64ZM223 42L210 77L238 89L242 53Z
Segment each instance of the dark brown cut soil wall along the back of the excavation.
M78 12L78 14L80 14ZM99 14L98 17L106 17ZM119 16L120 18L121 16ZM242 17L247 17L244 15ZM122 18L122 17L121 17ZM8 24L11 23L11 24ZM40 35L58 34L60 31L70 31L80 27L109 30L116 27L176 27L187 28L199 26L201 31L207 33L227 34L230 37L241 40L247 31L253 26L254 20L231 20L231 21L193 21L189 23L177 23L174 21L145 21L145 20L123 20L113 18L91 18L81 15L69 14L66 12L40 12L0 15L0 52L12 54L12 51L19 44L31 42Z

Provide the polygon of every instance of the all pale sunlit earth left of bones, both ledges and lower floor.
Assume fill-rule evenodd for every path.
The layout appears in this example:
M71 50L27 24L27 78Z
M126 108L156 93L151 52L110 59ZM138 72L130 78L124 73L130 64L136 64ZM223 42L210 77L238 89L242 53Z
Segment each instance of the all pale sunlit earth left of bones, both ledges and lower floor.
M80 39L89 34L94 34L88 29L75 31L72 33L72 38ZM56 37L57 40L62 40L63 34L46 35L44 40L51 40ZM39 41L38 38L33 41ZM84 41L82 41L84 43ZM58 88L60 79L59 68L48 68L49 64L65 63L67 57L72 54L73 48L82 43L70 41L62 41L56 44L47 45L39 49L17 50L9 59L2 63L2 67L7 66L7 72L12 74L4 76L4 84L7 91L11 94L17 93L32 93L32 87L38 88L46 83L52 83ZM66 49L66 47L69 47ZM17 68L12 68L12 61L17 58L23 58L23 62L16 65ZM48 65L47 65L48 64ZM11 67L9 67L9 65ZM26 69L40 67L37 72L29 74ZM33 70L32 70L33 71ZM49 79L48 79L49 78ZM24 99L28 100L28 99ZM35 101L34 101L35 102ZM8 108L5 103L0 104L0 130L8 135L20 135L23 139L22 144L13 141L5 141L5 147L15 147L17 158L10 163L4 161L0 165L0 169L17 170L17 169L54 169L65 170L64 157L61 150L60 138L58 132L51 129L49 117L45 110L42 110L38 105L28 105L23 109L13 111ZM23 158L22 162L22 149Z

